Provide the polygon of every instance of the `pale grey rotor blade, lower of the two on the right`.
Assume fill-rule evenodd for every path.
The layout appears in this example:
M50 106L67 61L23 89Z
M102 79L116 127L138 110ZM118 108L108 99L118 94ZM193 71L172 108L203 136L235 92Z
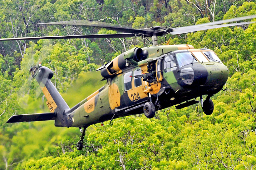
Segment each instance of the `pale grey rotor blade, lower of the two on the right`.
M196 27L196 28L191 28L188 30L183 30L183 29L174 29L173 32L170 34L176 35L176 34L183 34L183 33L189 33L189 32L195 32L195 31L201 31L201 30L209 30L209 29L214 29L214 28L223 28L223 27L229 27L229 26L237 26L237 25L245 25L245 24L251 24L255 23L256 21L252 22L239 22L239 23L232 23L232 24L222 24L222 25L211 25L211 26L203 26L203 27Z

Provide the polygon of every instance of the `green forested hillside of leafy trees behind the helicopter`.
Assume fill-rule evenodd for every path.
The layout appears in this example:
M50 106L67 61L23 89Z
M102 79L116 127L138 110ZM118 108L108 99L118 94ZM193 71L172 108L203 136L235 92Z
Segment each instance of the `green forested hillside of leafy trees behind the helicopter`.
M253 14L251 0L1 0L0 37L115 33L33 25L40 22L180 27ZM214 50L229 68L227 90L212 97L213 114L204 115L197 104L170 107L152 119L139 115L90 126L81 151L75 149L77 128L54 127L52 121L5 123L13 114L48 112L29 67L41 61L51 68L53 84L72 107L104 84L96 68L143 47L143 40L1 41L0 169L256 169L256 24L169 38L169 44Z

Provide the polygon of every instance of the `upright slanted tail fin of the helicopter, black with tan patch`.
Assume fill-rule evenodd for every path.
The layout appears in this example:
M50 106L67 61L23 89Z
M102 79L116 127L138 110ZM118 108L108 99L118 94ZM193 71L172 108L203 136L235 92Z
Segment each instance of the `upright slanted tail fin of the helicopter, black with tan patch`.
M70 108L50 80L53 76L52 70L48 67L39 66L37 70L32 71L32 76L36 78L47 99L46 103L50 112L57 114L55 126L68 126L65 113Z

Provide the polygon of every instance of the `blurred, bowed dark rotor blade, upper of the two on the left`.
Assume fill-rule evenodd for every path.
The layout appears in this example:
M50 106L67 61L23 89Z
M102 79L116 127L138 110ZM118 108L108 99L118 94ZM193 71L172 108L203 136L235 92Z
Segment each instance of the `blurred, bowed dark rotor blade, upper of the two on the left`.
M74 21L59 21L59 22L46 22L46 23L38 23L38 25L83 25L83 26L94 26L107 28L111 30L121 31L124 33L143 33L143 30L130 28L127 26L119 26L106 22L96 22L96 21L82 21L82 20L74 20Z

